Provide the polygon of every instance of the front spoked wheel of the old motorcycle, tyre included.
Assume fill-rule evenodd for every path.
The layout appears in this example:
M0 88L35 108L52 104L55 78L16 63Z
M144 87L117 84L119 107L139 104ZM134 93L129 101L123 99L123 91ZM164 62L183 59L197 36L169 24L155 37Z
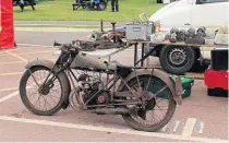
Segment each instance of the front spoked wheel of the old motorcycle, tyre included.
M29 70L31 70L32 74L31 74ZM39 115L39 116L51 116L51 115L58 112L58 111L61 109L62 104L63 104L63 100L64 100L63 94L64 94L64 90L65 90L65 88L64 88L64 84L65 84L65 83L63 83L62 81L60 81L61 78L60 78L59 74L57 74L56 81L59 83L60 88L56 88L56 90L55 90L56 84L58 84L58 83L55 83L55 82L56 82L56 81L55 81L55 82L53 82L53 86L52 86L50 90L47 90L47 87L45 88L45 87L41 87L41 86L43 86L43 82L45 81L45 79L46 79L47 75L49 74L50 69L47 68L47 67L38 65L38 67L34 67L34 68L32 68L32 69L29 69L29 70L25 71L25 73L23 74L23 76L22 76L22 79L21 79L21 82L20 82L20 97L21 97L21 99L22 99L24 106L25 106L29 111L32 111L33 114ZM41 71L45 71L45 72L47 73L47 75L44 75L44 74L38 75L38 76L39 76L39 80L36 80L35 76L36 76L38 73L40 73ZM50 74L50 76L52 76L52 75L53 75L53 73ZM44 79L41 79L43 76L44 76ZM26 90L27 83L29 82L31 79L32 79L32 81L34 81L34 84L32 84L31 86L28 86L28 88ZM37 79L38 79L38 78L37 78ZM36 80L36 81L35 81L35 80ZM39 84L39 86L36 84L36 82ZM67 84L65 84L65 85L67 85ZM32 102L31 102L29 98L28 98L28 97L31 97L31 96L28 95L29 90L33 88L34 86L37 87L37 88L36 88L35 92L31 95L32 98L34 98L34 96L35 96L36 94L38 94L37 99L35 99L35 100L36 100L35 105L32 104ZM60 93L59 93L59 94L56 94L56 96L51 97L51 96L50 96L50 95L51 95L51 92L58 91L58 90L60 90ZM57 96L59 96L59 97L57 97ZM46 107L45 107L46 105L50 105L50 104L47 102L48 98L51 99L51 100L57 99L57 103L55 104L53 107L51 107L51 108L49 108L49 109L40 109L40 108L35 107L36 104L38 104L39 107L40 107L40 104L45 104L43 108L46 108ZM38 100L43 100L43 102L40 103L40 102L38 102Z

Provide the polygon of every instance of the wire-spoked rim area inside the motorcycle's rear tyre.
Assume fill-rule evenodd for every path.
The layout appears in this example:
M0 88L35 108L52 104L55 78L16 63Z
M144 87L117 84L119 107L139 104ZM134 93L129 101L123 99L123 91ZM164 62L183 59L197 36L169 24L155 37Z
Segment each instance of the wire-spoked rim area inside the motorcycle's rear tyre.
M147 107L146 104L146 111L144 112L140 107L136 108L132 115L130 115L131 120L138 123L143 127L155 127L164 122L166 119L168 119L168 116L170 116L169 110L172 104L172 96L171 92L169 91L169 87L160 80L158 79L152 79L144 80L143 82L146 83L147 86L145 86L144 91L152 92L156 98L154 98L152 102L149 102L149 105ZM148 84L149 83L149 84ZM133 83L131 85L131 88L133 88L133 85L136 83ZM135 91L137 87L134 87ZM165 93L167 93L167 96L165 96ZM167 109L165 109L167 107ZM142 114L138 111L142 110ZM145 116L145 118L143 118Z

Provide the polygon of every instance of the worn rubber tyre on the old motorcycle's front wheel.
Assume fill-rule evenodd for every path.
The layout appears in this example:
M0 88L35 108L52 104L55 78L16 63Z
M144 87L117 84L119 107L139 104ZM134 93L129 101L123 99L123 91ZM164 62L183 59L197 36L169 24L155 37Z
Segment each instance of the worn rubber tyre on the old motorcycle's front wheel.
M32 72L33 75L35 75L34 74L35 72L47 71L49 73L50 70L51 69L49 69L47 67L37 65L37 67L32 68L31 72ZM60 94L60 98L59 98L58 103L56 104L55 107L52 107L51 109L48 109L48 110L36 109L35 106L29 102L28 96L27 96L27 92L28 91L26 91L26 84L27 84L29 78L32 78L32 80L33 80L33 76L32 76L31 72L28 70L25 71L25 73L23 74L23 76L22 76L22 79L20 81L20 97L21 97L24 106L29 111L32 111L33 114L39 115L39 116L51 116L51 115L58 112L62 108L62 105L63 105L63 102L64 102L64 93L68 93L67 92L67 87L65 87L65 85L68 85L68 83L65 83L64 81L60 80L60 79L62 79L61 74L57 74L57 81L60 83L60 86L61 86L60 87L61 94ZM37 86L37 85L35 84L35 86ZM38 99L39 98L44 98L45 99L45 97L47 96L47 95L41 95L38 91L36 91L36 92L38 93ZM33 96L35 96L35 94ZM57 95L56 95L56 97L57 97ZM48 98L48 96L46 97L46 99L47 98ZM51 98L51 97L49 97L49 98ZM53 99L53 98L51 98L51 99ZM48 102L47 102L47 104L48 104Z

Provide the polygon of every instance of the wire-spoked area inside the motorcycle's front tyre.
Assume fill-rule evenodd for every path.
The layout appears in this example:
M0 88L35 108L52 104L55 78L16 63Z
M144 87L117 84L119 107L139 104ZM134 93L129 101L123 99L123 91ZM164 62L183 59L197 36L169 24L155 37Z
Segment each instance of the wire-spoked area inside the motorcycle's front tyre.
M61 99L61 84L58 79L53 81L51 88L44 85L45 79L49 71L37 70L28 76L25 84L25 97L27 104L35 110L43 112L50 111L56 108ZM50 74L52 76L52 74ZM38 83L39 86L36 84Z

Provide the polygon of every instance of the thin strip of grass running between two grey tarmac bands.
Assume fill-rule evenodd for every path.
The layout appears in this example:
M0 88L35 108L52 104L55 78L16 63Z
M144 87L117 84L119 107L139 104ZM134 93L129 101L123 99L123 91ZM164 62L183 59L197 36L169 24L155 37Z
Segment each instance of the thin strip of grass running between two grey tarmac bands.
M89 25L40 25L40 24L19 24L14 27L63 27L63 28L100 28L100 26L89 26ZM110 26L104 26L104 28L111 28Z

